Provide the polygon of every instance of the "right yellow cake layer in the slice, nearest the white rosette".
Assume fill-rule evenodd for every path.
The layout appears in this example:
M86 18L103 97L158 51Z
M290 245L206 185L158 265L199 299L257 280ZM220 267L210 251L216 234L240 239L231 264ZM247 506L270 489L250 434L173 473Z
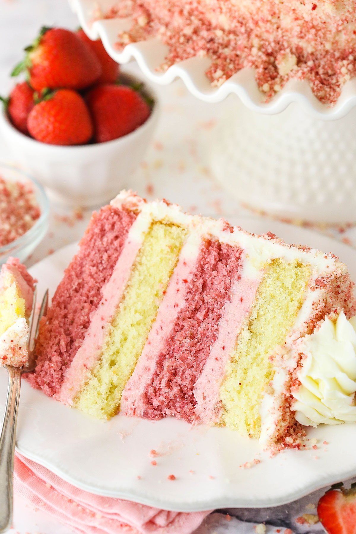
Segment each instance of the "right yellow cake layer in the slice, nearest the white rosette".
M220 389L222 421L240 434L259 438L259 405L273 367L271 352L295 323L310 279L309 266L273 260L258 288L248 324L242 329Z

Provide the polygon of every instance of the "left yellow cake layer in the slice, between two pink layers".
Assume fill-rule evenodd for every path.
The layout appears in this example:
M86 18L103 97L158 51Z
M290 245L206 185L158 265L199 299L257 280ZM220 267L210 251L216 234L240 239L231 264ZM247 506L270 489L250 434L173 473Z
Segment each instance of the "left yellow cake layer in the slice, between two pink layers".
M102 354L75 405L97 418L112 417L156 317L187 231L156 222L149 228L110 324Z

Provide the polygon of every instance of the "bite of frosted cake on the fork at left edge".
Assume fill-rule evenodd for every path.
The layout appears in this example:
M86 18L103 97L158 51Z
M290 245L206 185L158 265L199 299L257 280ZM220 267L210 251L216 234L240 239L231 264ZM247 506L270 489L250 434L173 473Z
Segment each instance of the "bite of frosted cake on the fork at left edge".
M0 364L21 367L28 359L28 319L35 280L17 258L0 272Z

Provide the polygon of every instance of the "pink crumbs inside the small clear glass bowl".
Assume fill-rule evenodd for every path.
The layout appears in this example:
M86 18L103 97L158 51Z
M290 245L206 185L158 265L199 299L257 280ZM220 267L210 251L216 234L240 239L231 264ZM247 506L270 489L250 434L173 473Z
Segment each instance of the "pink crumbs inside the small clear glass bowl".
M30 183L5 181L0 177L0 247L30 230L40 215Z

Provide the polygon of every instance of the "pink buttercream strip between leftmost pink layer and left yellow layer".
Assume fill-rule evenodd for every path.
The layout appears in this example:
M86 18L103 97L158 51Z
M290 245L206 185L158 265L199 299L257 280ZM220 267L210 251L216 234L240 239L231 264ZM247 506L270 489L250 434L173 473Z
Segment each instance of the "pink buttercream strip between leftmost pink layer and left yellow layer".
M107 325L120 304L128 282L131 268L141 247L141 242L126 240L123 251L118 258L112 277L102 289L102 299L98 309L93 313L90 327L84 337L81 348L77 351L72 364L68 367L62 387L55 397L64 404L73 404L73 400L89 378L90 370L100 357L100 351L107 333Z

